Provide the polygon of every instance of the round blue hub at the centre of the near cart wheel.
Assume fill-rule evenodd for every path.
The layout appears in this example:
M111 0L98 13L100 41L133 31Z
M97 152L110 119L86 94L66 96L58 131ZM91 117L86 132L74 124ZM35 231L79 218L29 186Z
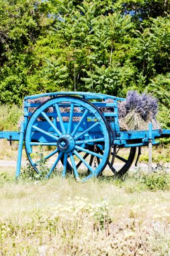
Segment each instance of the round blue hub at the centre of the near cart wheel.
M69 134L62 135L57 141L58 150L69 153L75 148L75 139Z

